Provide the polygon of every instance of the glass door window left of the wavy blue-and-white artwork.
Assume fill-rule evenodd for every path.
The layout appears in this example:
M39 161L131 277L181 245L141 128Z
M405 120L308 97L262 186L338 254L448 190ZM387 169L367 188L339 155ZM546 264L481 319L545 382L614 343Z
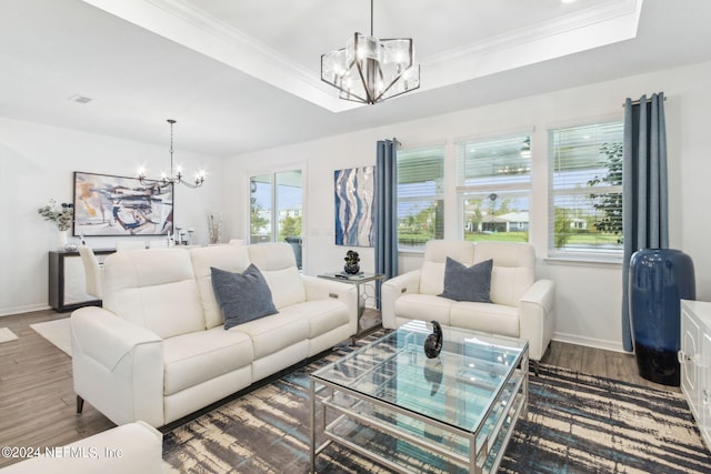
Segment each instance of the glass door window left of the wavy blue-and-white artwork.
M301 170L250 178L250 243L288 242L301 269Z

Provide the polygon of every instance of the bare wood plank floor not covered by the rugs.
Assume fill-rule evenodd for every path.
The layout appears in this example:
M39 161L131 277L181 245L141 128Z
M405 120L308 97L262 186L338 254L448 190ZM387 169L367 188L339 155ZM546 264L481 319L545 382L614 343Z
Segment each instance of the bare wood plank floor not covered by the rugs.
M68 316L47 310L0 317L19 337L0 343L0 446L61 446L114 426L89 403L76 414L71 359L30 327ZM679 392L641 379L630 354L552 342L541 363ZM0 467L17 461L0 457Z

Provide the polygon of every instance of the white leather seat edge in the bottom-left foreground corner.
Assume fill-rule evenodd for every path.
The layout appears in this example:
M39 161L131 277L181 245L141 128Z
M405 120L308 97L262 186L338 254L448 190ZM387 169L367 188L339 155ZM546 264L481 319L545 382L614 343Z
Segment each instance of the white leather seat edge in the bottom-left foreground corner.
M128 423L0 470L2 474L160 474L163 435L143 422ZM37 446L34 446L37 448Z

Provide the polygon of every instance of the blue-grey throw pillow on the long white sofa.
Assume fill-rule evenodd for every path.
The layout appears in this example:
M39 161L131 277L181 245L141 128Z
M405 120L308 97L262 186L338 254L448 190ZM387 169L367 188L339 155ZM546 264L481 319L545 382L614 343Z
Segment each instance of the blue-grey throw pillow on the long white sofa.
M224 329L276 314L271 291L253 264L242 273L211 268L214 299L224 316Z

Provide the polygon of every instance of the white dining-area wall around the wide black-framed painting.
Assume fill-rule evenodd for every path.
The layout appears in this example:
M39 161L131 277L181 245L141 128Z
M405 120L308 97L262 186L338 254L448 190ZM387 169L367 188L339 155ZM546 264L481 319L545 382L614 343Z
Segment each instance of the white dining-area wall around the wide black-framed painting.
M131 177L146 164L158 175L169 168L168 145L0 118L0 315L48 307L47 255L57 246L57 228L42 220L38 208L50 199L72 202L74 171ZM178 188L174 202L176 223L193 226L196 240L207 243L207 212L223 205L223 161L180 149L176 161L187 170L204 168L210 173L200 189ZM108 249L117 239L87 241L94 249Z

